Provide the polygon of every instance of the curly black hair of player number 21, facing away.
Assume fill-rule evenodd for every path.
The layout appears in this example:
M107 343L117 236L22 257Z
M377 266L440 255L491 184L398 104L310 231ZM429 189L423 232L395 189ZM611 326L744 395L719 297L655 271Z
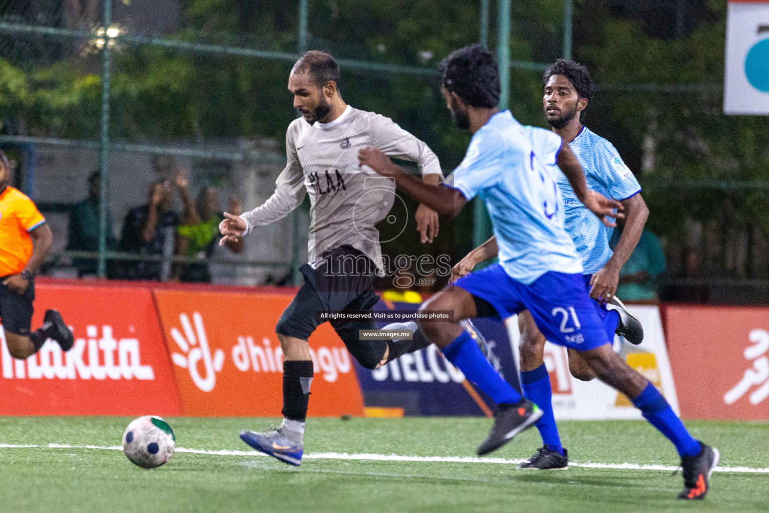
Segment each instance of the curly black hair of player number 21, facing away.
M499 103L501 86L494 54L475 43L451 52L438 67L441 86L455 92L468 105L494 108Z

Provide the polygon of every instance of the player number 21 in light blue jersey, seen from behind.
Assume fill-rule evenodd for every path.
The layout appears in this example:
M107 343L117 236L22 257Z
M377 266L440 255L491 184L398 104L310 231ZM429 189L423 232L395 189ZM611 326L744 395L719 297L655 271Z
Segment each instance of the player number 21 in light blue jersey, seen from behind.
M717 450L692 438L657 388L612 350L585 290L581 258L564 230L558 186L524 128L510 112L496 108L500 86L494 56L481 45L452 52L441 63L441 92L457 125L473 133L449 187L419 182L374 148L362 149L359 158L362 165L394 178L401 191L440 215L456 215L474 197L488 208L497 236L498 264L458 279L455 286L448 285L421 306L425 314L451 311L452 321L419 323L444 356L498 405L494 425L478 454L500 448L531 427L541 410L494 371L460 321L508 318L528 310L549 340L579 351L601 381L627 395L644 418L673 442L684 469L684 491L679 497L704 498L717 465ZM558 135L540 131L537 137ZM608 215L623 206L588 189L568 145L561 145L554 161L580 201L606 225L614 225Z

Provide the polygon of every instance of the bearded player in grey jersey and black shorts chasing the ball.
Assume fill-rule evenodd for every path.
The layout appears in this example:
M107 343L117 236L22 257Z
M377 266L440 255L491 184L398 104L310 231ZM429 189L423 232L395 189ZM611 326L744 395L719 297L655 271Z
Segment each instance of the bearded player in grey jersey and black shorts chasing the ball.
M369 311L378 301L375 275L384 274L384 258L375 225L388 216L394 182L358 162L358 150L374 146L387 155L416 162L424 183L438 185L443 174L438 158L424 142L389 118L345 104L338 89L339 67L325 52L302 55L291 70L288 90L301 118L286 134L288 163L275 193L243 215L225 213L220 244L248 235L256 226L284 218L309 192L310 234L305 284L278 320L283 363L283 415L278 429L243 431L241 438L258 451L300 465L304 448L313 363L308 338L322 323L316 311ZM422 242L438 235L438 215L420 205L416 213ZM385 326L415 331L416 325ZM358 331L376 329L373 321L331 321L350 353L365 368L377 368L404 353L427 347L419 333L403 340L361 340Z

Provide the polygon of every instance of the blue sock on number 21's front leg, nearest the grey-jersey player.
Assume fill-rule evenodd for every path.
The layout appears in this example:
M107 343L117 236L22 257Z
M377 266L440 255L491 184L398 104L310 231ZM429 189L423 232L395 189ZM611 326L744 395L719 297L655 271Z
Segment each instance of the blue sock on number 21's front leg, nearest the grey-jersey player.
M465 378L478 385L498 405L514 405L521 401L521 395L491 367L467 331L462 331L441 351L454 367L464 373Z

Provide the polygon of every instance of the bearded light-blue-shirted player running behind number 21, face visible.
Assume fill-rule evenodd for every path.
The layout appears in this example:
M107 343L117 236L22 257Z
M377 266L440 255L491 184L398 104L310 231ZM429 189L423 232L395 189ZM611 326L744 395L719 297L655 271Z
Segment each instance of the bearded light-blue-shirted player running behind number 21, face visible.
M544 162L564 197L564 229L571 236L582 258L584 284L593 298L598 315L604 321L607 333L613 335L616 332L629 342L640 344L644 338L641 323L614 297L614 292L617 290L620 270L638 244L649 215L649 209L641 198L641 186L611 142L582 125L584 111L592 97L588 69L577 62L558 59L545 70L543 88L545 118L553 132L568 142L571 151L577 156L588 187L617 199L624 206L625 228L612 254L609 240L614 228L604 226L585 208L557 165ZM537 144L541 139L534 137L536 130L526 127L534 151L544 155L548 148ZM465 275L482 261L495 256L497 242L492 237L463 258L454 267L454 273ZM518 315L518 328L521 331L521 387L524 396L537 403L544 412L536 424L544 446L529 461L521 463L521 468L568 468L568 451L561 446L553 415L550 378L544 366L545 337L529 311L522 311ZM568 348L568 361L574 378L581 381L595 378L595 373L573 348Z

